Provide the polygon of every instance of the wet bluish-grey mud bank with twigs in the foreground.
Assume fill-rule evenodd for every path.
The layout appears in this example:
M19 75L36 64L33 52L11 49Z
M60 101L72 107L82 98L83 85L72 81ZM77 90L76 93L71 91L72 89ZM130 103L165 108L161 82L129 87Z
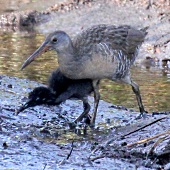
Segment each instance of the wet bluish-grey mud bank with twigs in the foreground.
M96 128L76 131L68 121L81 113L80 101L16 116L27 93L40 85L1 76L0 169L169 169L169 112L135 120L136 112L101 101Z

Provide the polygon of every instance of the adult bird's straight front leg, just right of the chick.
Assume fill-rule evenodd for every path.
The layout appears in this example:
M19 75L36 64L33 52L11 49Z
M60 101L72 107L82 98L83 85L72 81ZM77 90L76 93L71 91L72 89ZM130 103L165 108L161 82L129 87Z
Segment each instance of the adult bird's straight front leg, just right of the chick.
M91 126L94 127L96 115L97 115L97 108L98 108L99 100L100 100L99 80L93 80L92 85L93 85L93 90L94 90L94 112L93 112L93 116L91 119Z

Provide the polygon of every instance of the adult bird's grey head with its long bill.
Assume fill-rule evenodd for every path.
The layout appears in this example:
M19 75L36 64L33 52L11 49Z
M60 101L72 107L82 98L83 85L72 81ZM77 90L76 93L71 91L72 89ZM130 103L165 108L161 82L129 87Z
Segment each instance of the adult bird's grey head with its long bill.
M72 50L72 41L64 31L55 31L47 36L41 46L27 58L21 70L28 66L36 57L49 50L55 50L58 54Z

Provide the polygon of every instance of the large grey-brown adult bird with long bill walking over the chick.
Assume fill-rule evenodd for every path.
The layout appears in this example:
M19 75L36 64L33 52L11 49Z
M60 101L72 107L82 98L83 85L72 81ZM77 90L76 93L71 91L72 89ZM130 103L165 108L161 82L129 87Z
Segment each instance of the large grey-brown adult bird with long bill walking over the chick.
M140 116L143 116L145 110L139 86L131 79L130 67L144 41L146 30L147 27L137 30L128 25L97 25L83 31L73 40L64 31L54 31L24 62L21 69L43 52L55 50L59 69L66 77L92 80L95 98L92 124L95 124L100 100L98 80L104 78L131 85Z

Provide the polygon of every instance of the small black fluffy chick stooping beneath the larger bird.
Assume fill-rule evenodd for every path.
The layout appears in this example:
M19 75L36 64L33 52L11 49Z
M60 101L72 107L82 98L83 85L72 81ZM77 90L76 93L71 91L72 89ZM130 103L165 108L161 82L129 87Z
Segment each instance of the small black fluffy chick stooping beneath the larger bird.
M33 89L28 95L28 101L17 110L17 114L29 107L37 105L59 105L67 99L79 99L83 101L84 111L74 121L77 123L88 116L90 111L88 95L92 92L92 80L72 80L65 77L60 70L57 69L50 75L48 87L40 86Z

